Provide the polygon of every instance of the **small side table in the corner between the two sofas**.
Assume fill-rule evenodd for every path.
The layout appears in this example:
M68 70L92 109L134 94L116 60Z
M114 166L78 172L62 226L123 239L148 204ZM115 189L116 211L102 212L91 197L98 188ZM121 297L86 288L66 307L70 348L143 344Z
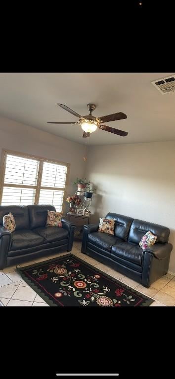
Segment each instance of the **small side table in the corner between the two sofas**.
M74 239L77 241L81 241L83 237L83 227L84 225L90 224L90 215L82 216L77 215L76 213L67 213L67 220L76 225Z

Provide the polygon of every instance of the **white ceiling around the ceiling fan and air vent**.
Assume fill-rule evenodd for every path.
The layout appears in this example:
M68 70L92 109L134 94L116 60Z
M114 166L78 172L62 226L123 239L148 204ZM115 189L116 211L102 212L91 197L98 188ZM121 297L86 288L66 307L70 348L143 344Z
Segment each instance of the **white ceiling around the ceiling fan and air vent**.
M89 145L175 140L175 92L162 95L151 84L175 73L5 73L0 74L0 116ZM95 116L117 112L128 118L106 123L129 132L120 137L102 130L83 139L79 125L47 121L78 121L58 107L81 115L94 103Z

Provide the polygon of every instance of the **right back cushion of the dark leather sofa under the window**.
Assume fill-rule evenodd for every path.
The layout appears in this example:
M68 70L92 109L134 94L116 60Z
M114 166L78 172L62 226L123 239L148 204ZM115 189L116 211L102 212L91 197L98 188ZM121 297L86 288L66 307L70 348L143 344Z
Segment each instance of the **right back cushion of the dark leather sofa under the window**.
M55 211L53 205L28 205L30 228L45 227L47 211Z

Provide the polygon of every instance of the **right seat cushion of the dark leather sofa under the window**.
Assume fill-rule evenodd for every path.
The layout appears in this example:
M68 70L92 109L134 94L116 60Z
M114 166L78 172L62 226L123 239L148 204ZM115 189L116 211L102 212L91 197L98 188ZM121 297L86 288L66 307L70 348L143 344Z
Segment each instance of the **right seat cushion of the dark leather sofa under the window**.
M33 231L44 238L44 243L68 238L68 231L62 227L37 227Z

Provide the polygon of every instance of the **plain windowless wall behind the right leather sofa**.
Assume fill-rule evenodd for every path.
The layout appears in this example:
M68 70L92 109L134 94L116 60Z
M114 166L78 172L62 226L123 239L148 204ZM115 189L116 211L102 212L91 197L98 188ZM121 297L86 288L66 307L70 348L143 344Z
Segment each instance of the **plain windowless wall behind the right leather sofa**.
M175 142L90 147L86 177L97 188L92 222L116 212L170 228L175 272Z

